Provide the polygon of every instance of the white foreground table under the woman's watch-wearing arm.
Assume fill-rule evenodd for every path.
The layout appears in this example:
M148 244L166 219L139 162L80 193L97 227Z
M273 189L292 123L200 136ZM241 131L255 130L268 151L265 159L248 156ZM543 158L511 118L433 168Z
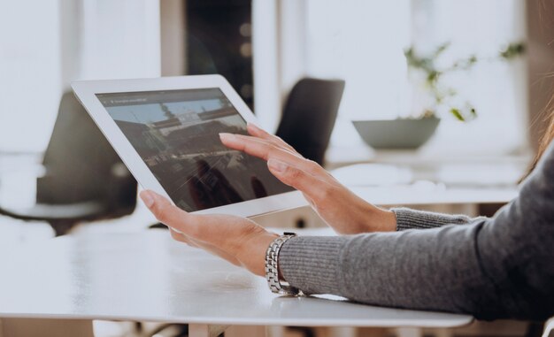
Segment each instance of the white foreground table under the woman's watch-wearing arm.
M0 254L0 318L109 319L210 326L453 327L473 318L273 295L265 280L165 231L87 234Z

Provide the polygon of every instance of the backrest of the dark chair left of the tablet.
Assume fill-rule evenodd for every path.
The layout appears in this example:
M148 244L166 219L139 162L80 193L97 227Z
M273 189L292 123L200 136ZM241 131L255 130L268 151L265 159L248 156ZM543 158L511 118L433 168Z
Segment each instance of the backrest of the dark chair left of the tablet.
M37 180L37 203L98 202L102 218L135 210L135 178L71 92L62 96L42 164L46 175Z

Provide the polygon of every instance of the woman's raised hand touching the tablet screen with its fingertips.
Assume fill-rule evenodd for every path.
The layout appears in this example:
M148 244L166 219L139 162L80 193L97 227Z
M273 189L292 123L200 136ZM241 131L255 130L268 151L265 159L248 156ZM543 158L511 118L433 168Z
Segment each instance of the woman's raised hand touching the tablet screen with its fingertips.
M231 149L266 160L269 171L283 183L301 191L312 208L337 233L396 230L396 217L392 211L366 203L317 163L300 156L281 138L252 124L248 125L248 133L250 136L219 134L219 137Z

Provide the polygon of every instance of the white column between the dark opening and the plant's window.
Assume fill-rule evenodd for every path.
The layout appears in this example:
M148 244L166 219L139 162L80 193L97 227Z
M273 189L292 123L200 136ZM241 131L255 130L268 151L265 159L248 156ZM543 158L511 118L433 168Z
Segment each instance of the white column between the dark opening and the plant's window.
M274 131L290 88L306 73L306 1L253 0L254 111Z

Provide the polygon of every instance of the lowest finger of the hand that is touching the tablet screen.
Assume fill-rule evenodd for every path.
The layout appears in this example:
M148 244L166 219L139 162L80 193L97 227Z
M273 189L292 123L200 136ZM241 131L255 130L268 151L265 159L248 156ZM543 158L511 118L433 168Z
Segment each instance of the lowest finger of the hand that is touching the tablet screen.
M278 159L270 158L267 167L277 179L301 191L311 203L325 202L335 188L335 185Z

